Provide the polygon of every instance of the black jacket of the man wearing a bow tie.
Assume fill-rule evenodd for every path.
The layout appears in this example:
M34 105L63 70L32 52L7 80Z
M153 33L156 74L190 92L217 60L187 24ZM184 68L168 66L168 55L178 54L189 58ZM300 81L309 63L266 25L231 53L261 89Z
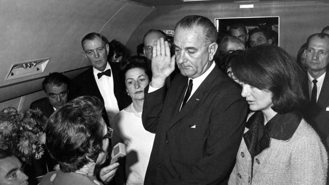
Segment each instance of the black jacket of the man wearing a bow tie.
M119 66L111 65L111 71L114 83L114 96L118 103L119 110L122 110L131 103L131 98L125 93L126 87L123 83L124 80L121 80L120 78ZM70 100L79 96L94 96L99 98L104 104L104 99L94 78L93 67L73 78L71 84L72 87L70 88L71 91L69 94ZM109 125L109 120L105 109L103 110L103 118L106 124Z

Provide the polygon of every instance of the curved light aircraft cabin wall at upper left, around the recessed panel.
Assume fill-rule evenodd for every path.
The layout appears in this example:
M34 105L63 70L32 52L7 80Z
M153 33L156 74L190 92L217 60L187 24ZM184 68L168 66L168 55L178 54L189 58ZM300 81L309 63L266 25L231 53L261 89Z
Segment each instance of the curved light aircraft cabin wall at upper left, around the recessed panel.
M90 66L81 55L81 39L87 33L100 32L109 41L115 38L126 44L153 10L118 0L2 0L0 111L7 106L28 109L32 101L45 97L41 83L51 72L72 78ZM50 61L43 73L6 80L16 64L44 58Z

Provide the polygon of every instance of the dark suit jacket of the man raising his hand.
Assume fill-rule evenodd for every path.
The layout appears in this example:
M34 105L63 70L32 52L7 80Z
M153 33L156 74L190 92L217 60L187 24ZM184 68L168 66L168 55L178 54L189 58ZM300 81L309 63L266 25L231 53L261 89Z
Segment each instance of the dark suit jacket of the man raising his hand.
M143 125L156 134L144 184L227 183L248 109L241 88L215 67L180 111L187 81L145 93Z

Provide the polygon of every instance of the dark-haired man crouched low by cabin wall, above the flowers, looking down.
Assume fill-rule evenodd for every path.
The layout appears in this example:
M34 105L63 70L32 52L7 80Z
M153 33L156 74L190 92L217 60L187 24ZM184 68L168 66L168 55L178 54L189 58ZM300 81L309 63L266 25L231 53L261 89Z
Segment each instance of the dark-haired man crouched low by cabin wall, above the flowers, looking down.
M49 116L67 103L70 79L60 73L50 73L42 82L46 98L31 103L30 109L40 109L44 115Z

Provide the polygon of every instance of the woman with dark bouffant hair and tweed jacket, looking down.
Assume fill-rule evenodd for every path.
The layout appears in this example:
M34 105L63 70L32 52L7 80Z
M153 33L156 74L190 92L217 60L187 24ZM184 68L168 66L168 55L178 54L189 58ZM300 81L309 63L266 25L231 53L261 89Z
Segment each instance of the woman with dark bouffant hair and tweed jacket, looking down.
M302 118L303 72L275 45L259 45L231 61L252 111L229 184L325 184L327 153Z

